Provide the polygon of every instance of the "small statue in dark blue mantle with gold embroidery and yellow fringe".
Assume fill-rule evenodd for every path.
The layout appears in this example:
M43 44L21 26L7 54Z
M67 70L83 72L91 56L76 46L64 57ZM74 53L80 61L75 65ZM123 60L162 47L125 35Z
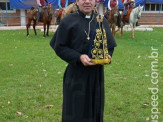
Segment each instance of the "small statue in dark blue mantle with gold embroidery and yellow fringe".
M93 40L91 40L88 56L91 58L92 63L104 65L108 64L111 59L109 58L106 31L102 23L103 16L98 15L96 19L96 31L93 34Z

